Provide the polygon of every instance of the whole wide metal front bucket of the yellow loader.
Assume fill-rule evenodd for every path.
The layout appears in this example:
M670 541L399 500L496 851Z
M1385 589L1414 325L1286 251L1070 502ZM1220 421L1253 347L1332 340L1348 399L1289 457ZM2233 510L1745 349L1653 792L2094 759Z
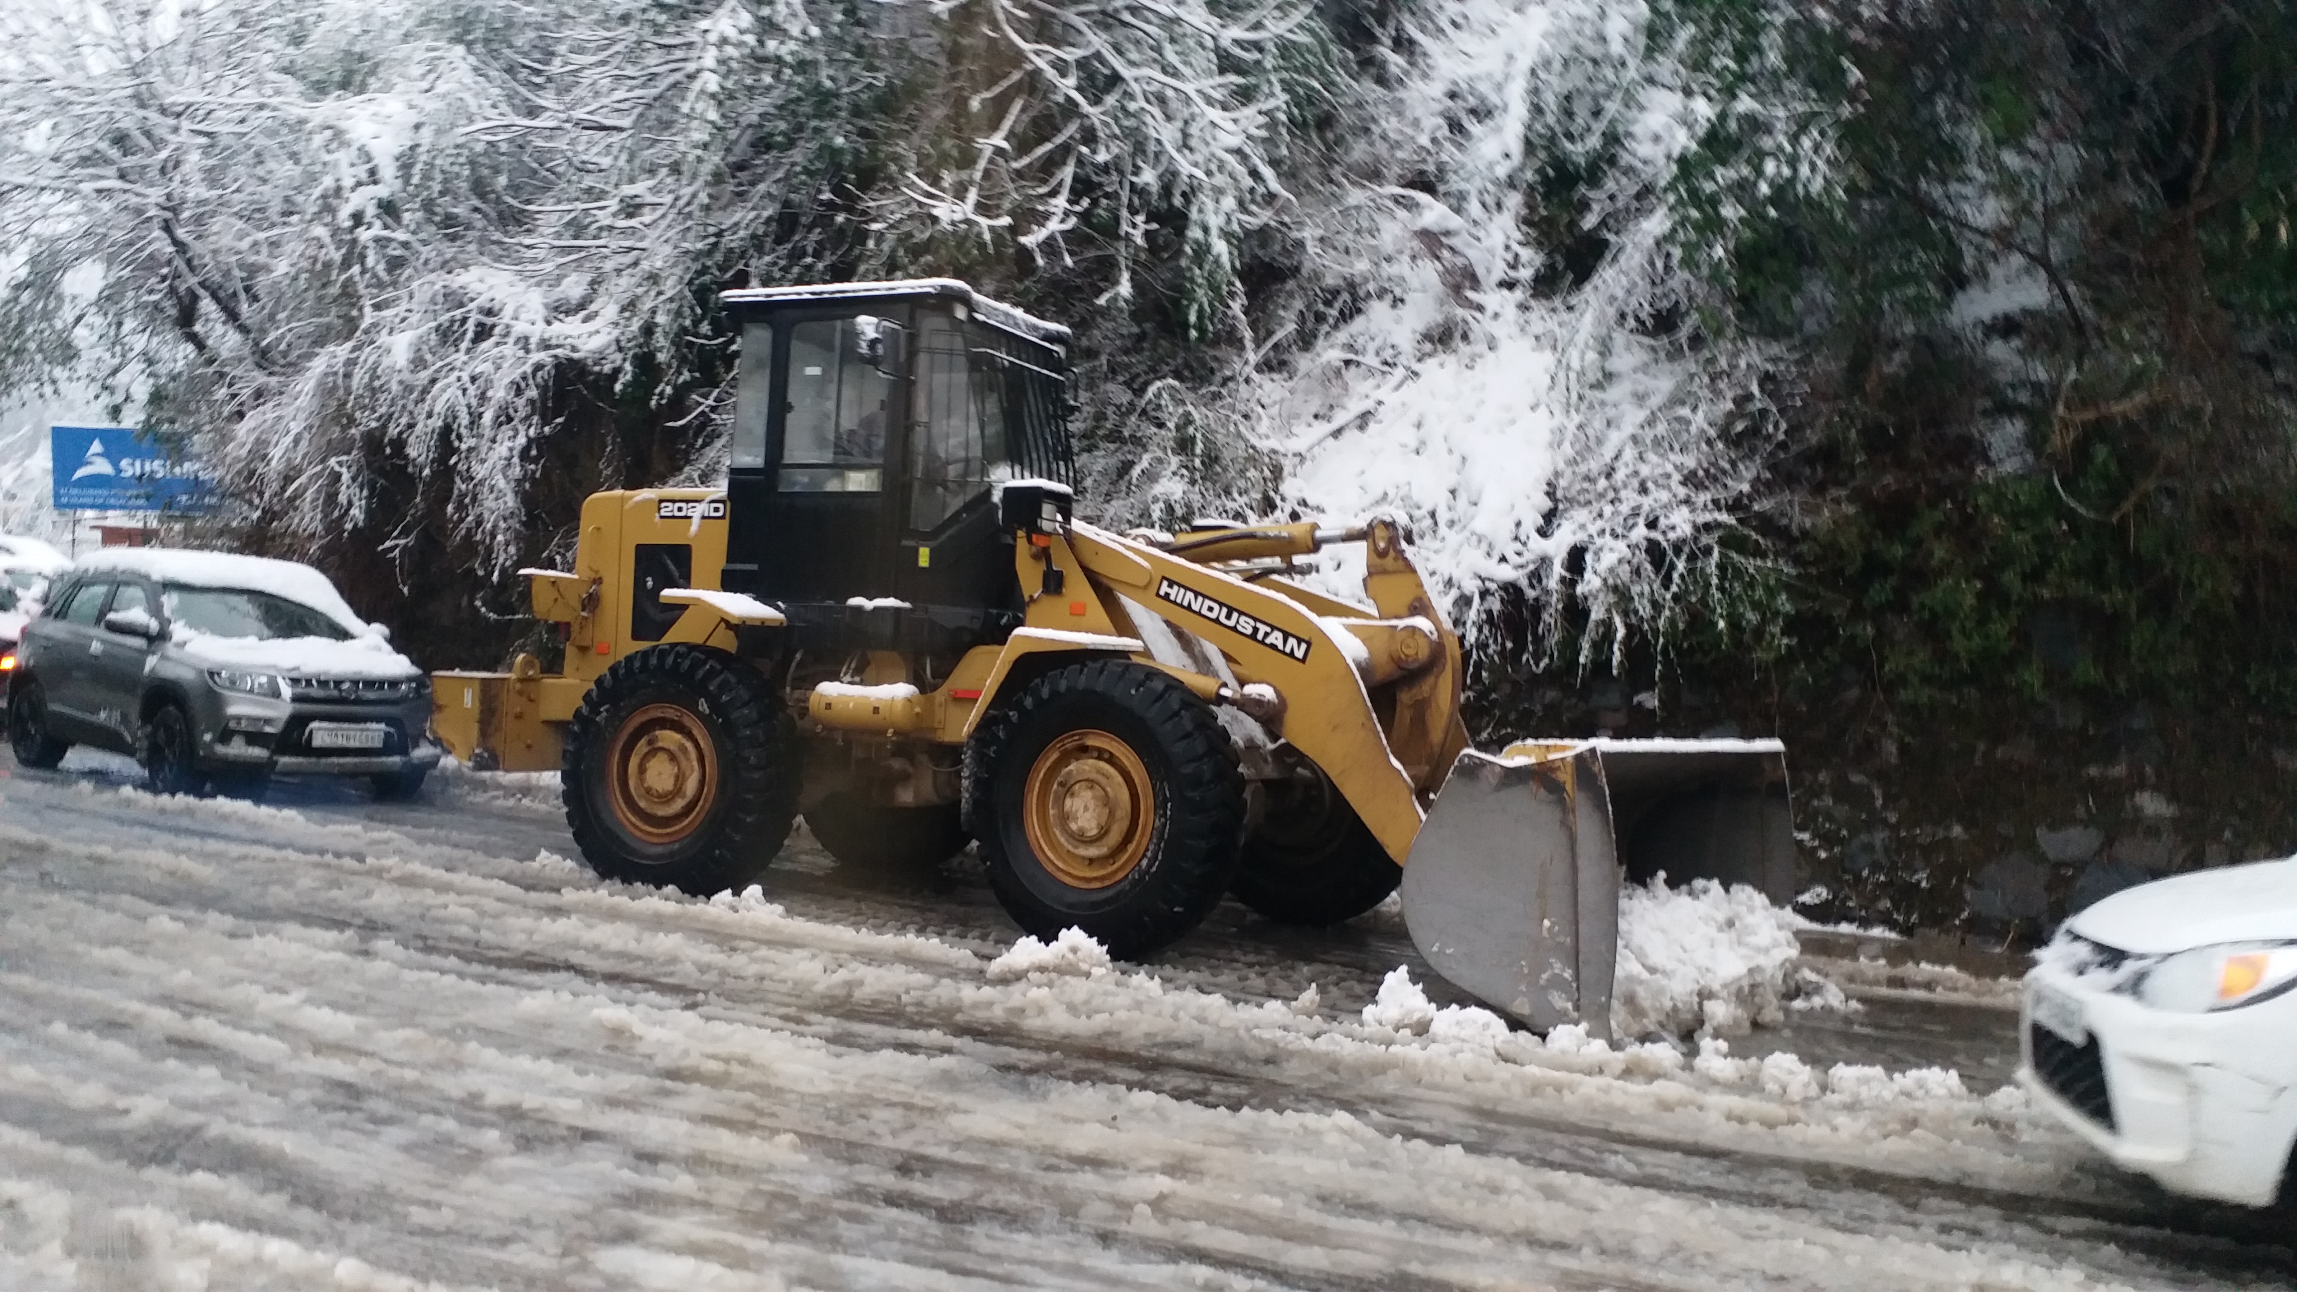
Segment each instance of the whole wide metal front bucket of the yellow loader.
M1794 885L1776 740L1541 740L1468 749L1403 864L1403 924L1454 986L1534 1030L1610 1037L1619 885Z

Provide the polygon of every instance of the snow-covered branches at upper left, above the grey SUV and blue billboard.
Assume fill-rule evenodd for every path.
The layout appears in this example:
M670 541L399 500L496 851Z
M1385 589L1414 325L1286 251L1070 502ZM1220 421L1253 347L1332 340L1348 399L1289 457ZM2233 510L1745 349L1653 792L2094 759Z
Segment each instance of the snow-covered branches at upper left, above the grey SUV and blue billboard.
M377 451L446 471L505 563L574 386L689 384L696 283L813 147L815 39L802 0L11 5L0 384L101 368L312 536Z

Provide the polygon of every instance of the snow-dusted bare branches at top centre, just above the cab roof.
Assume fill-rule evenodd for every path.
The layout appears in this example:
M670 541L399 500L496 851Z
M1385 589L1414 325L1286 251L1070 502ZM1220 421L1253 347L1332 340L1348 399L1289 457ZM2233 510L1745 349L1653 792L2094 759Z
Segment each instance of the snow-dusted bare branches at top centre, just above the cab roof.
M1158 212L1185 218L1183 308L1233 306L1238 239L1289 214L1286 117L1318 97L1309 0L1240 16L1206 0L930 0L946 117L930 122L894 218L1011 241L1041 264L1114 262L1096 303L1132 297ZM953 90L953 92L951 92ZM1075 239L1100 209L1114 237ZM1084 246L1077 246L1082 241ZM1080 301L1082 306L1084 301Z

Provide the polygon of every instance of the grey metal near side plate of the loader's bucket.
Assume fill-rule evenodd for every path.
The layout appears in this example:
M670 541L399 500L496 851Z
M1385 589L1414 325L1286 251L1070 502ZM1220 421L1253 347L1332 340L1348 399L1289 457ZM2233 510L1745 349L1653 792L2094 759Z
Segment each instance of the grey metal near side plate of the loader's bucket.
M1413 945L1454 986L1539 1030L1610 1037L1619 864L1592 747L1461 754L1399 892Z

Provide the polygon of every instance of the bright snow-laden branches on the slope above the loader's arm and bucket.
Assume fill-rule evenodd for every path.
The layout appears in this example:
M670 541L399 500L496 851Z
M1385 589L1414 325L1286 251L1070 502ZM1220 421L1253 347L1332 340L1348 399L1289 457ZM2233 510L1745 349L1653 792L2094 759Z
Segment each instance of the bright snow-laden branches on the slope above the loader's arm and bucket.
M1406 515L1470 632L1514 584L1550 630L1576 600L1585 646L1617 646L1720 572L1773 441L1773 356L1686 322L1681 168L1723 133L1799 159L1709 159L1727 223L1730 200L1828 182L1831 117L1734 94L1748 69L1693 64L1642 0L1452 0L1410 23L1353 166L1374 182L1316 228L1358 303L1261 382L1261 434L1307 510Z

